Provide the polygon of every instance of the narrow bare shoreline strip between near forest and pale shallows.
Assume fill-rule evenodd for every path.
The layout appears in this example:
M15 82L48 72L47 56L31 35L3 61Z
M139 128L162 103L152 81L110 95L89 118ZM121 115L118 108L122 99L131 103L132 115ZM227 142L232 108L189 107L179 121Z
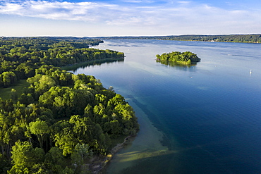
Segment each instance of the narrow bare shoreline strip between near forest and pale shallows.
M104 171L104 168L107 167L107 164L111 159L113 158L114 154L116 154L120 149L122 149L129 140L130 137L135 137L135 135L129 135L124 139L122 143L116 144L114 148L111 149L110 153L106 156L94 156L92 159L90 159L90 163L87 165L89 166L89 170L92 174L102 174Z

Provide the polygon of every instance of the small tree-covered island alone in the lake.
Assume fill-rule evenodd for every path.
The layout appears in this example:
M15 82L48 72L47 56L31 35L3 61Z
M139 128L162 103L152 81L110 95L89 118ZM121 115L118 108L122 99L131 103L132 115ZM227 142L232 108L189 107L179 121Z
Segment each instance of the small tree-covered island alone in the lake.
M200 62L200 58L198 58L197 54L193 54L190 51L186 52L179 52L179 51L173 51L171 53L164 53L162 55L157 54L156 61L162 62L162 61L171 61L176 63L182 63L186 65L195 64L197 62Z

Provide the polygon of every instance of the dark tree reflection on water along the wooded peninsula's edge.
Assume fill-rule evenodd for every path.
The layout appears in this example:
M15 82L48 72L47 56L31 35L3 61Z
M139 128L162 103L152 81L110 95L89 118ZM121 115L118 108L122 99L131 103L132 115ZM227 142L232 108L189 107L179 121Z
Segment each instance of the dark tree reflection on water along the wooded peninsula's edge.
M75 73L75 71L78 70L78 68L86 68L89 66L101 66L104 63L107 63L107 65L109 65L111 63L121 63L121 62L124 62L124 58L113 58L113 59L110 58L104 60L87 61L83 63L77 63L72 66L65 66L63 67L63 70L72 70L73 73Z

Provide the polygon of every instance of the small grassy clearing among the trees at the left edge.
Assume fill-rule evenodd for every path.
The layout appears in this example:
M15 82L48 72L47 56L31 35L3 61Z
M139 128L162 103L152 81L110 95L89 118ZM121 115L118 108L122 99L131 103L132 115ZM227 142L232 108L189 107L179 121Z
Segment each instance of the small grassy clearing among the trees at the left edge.
M29 87L29 83L26 80L20 80L16 85L12 87L0 88L0 97L2 99L10 99L11 89L16 89L18 96L23 93L23 88Z

